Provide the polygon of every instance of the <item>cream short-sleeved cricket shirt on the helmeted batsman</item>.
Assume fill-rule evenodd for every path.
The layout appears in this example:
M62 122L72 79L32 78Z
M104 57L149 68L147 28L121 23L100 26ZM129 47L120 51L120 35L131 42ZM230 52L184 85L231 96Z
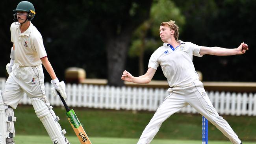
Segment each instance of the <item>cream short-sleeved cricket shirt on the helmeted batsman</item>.
M41 33L30 22L29 28L21 33L20 25L11 24L11 42L15 45L15 64L19 66L40 65L41 58L46 57Z

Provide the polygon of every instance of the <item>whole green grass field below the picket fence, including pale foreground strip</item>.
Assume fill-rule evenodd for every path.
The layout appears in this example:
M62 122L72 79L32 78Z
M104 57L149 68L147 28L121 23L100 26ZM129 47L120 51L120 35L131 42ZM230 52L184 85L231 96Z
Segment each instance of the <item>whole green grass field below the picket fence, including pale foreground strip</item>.
M74 131L65 116L65 109L54 107L53 110L60 118L61 127L67 131L65 136L70 139L72 144L79 144L77 138L73 137L75 136ZM148 111L88 108L74 108L74 111L93 144L135 144L154 115L154 112ZM17 117L15 122L17 144L25 142L24 140L29 140L29 142L32 140L32 143L33 140L39 141L33 144L41 144L40 142L51 144L45 127L37 118L31 105L18 105L14 112ZM256 144L255 116L223 116L223 118L234 129L243 144ZM209 124L208 131L209 144L226 144L225 142L230 144L228 138L212 124ZM176 113L163 122L152 144L200 144L201 137L202 116L200 114ZM247 143L247 141L251 142Z

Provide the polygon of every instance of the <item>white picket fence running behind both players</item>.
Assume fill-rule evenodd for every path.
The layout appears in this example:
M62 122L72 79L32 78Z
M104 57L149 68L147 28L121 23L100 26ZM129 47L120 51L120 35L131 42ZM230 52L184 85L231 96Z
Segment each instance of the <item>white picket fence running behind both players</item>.
M4 89L5 79L0 79L0 90ZM62 105L59 97L51 95L50 83L45 90L51 105ZM110 87L98 85L67 84L67 104L70 107L90 107L97 109L126 109L134 111L156 111L168 96L167 89ZM213 106L219 114L256 116L256 93L207 92ZM31 104L26 94L21 104ZM187 105L181 113L197 113Z

